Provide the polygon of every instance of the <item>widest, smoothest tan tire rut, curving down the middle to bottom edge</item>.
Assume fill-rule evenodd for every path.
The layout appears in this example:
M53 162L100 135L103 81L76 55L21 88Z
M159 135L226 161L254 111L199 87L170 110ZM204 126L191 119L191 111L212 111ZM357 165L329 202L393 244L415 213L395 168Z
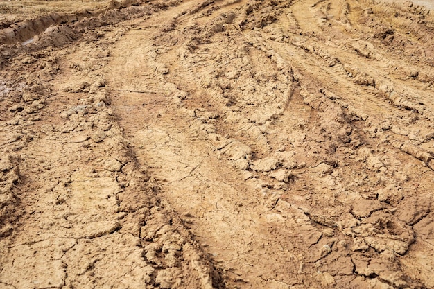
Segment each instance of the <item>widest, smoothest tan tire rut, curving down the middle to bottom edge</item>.
M150 34L148 31L143 33ZM131 48L135 39L133 33L126 35L116 51L124 51L123 46ZM146 41L142 43L145 44ZM128 59L137 60L134 53L143 52L144 44L138 44L132 49L129 53L131 58ZM113 53L114 59L119 59L123 53L118 54L116 51ZM153 55L152 52L148 51L144 55L145 58L139 63L141 69L146 70L147 65L152 65L155 60L146 56ZM116 65L115 62L110 71L118 68L131 69ZM133 71L130 73L134 74ZM129 72L121 74L125 73ZM125 87L125 84L115 78L108 78L110 86ZM153 78L166 82L164 73L158 71ZM136 84L147 87L146 78ZM239 288L273 288L276 284L293 286L299 283L293 279L298 265L281 267L282 263L287 263L285 260L295 257L288 255L286 250L280 252L281 244L271 241L271 226L275 222L281 224L279 218L284 217L267 212L261 194L255 189L255 182L240 186L238 181L242 175L215 155L214 148L207 141L207 133L195 126L196 117L190 114L193 110L174 103L168 97L172 91L167 91L167 87L168 82L153 88L162 91L162 101L153 107L146 106L141 112L150 117L139 121L134 114L118 112L125 133L137 148L135 153L139 161L148 166L149 173L155 177L160 187L160 194L184 216L184 222L189 224L200 243L214 256L216 264L227 272L228 284L237 284ZM118 99L130 104L146 98L138 97L137 94L121 95ZM152 98L155 100L158 96ZM116 100L113 106L119 107ZM164 127L161 126L162 123ZM264 246L268 252L275 252L267 254L266 259L259 254Z

